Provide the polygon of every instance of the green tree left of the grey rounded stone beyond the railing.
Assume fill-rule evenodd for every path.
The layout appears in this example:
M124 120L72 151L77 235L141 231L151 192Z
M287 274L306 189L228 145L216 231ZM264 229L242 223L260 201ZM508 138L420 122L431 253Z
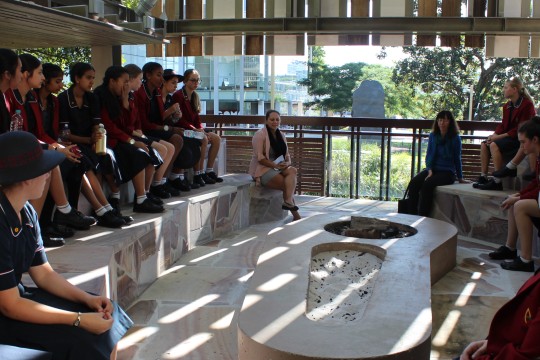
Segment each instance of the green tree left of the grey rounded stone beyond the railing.
M308 77L299 85L308 88L314 100L306 103L344 114L352 109L352 92L357 88L362 76L364 63L348 63L342 66L328 66L324 63L324 50L314 47L312 59L308 62Z

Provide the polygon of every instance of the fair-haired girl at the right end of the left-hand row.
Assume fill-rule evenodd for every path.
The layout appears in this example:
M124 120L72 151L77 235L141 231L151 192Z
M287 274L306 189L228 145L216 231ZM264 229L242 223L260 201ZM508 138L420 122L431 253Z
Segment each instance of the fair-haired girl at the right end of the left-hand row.
M184 129L200 131L206 134L202 139L201 158L199 159L199 163L194 167L195 177L193 178L194 182L204 186L206 184L222 182L223 179L218 177L214 171L214 163L219 152L219 146L221 145L221 138L213 132L205 132L199 116L201 112L201 100L196 90L200 83L201 75L197 70L188 69L184 71L184 87L174 93L172 100L173 103L180 104L182 118L178 123L179 126ZM204 158L208 144L210 144L210 150L208 151L205 171L203 170Z

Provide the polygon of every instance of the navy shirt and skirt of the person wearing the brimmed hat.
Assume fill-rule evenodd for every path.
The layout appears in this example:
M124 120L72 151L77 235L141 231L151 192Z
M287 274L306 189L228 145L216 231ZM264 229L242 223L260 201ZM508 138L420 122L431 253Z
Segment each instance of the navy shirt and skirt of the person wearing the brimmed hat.
M20 296L29 300L67 311L91 312L83 304L21 284L22 274L45 264L47 256L35 210L26 203L20 215L22 221L0 191L0 290L17 287ZM0 343L47 351L59 360L108 360L115 344L133 325L116 303L112 316L112 328L94 335L80 327L32 324L0 315Z

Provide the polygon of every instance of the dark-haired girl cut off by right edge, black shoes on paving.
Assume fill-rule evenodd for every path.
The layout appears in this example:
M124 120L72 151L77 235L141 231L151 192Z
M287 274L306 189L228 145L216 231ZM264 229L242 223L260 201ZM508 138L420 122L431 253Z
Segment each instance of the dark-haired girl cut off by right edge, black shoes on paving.
M523 123L518 130L518 139L525 154L540 155L540 117L535 116ZM536 162L536 176L529 185L518 193L510 195L503 201L501 207L508 210L508 234L506 244L496 251L489 253L495 260L512 260L501 263L501 267L514 271L534 271L532 260L533 224L540 222L538 208L538 189L540 160ZM516 244L520 239L521 256L517 256Z

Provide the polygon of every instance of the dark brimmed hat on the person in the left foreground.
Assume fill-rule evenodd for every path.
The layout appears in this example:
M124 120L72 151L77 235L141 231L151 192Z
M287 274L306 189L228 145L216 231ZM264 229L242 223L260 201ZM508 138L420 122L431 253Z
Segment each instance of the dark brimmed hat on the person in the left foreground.
M66 157L54 150L43 150L38 139L26 131L0 135L0 185L36 178L51 171Z

